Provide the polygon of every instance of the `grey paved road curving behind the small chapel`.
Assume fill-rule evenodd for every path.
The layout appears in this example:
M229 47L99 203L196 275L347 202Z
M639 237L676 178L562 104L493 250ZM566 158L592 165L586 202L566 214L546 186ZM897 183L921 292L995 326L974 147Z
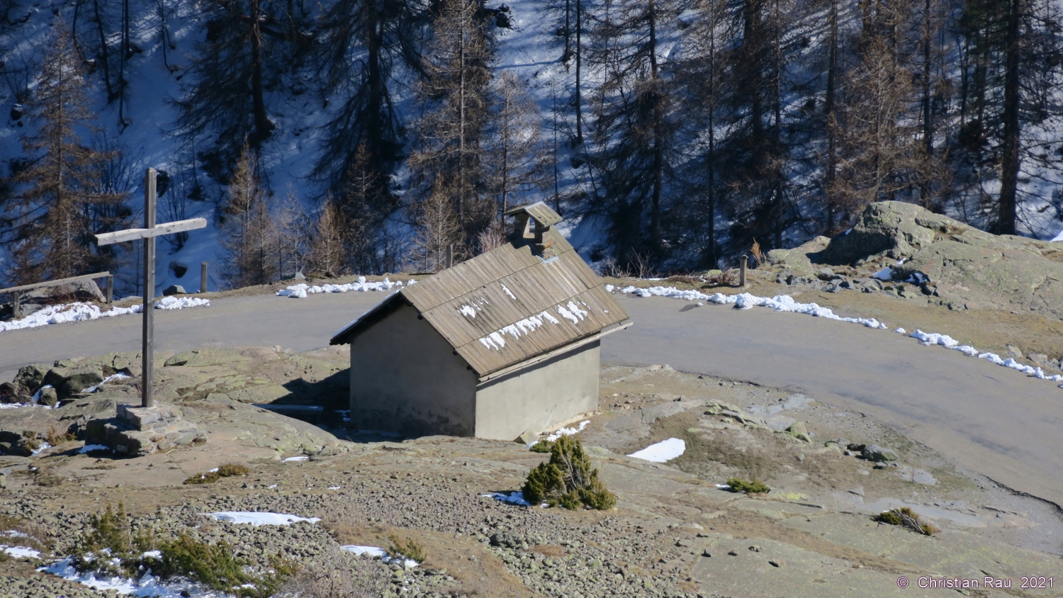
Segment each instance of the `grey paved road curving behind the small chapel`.
M197 346L327 344L384 293L215 300L156 312L156 351ZM961 466L1063 505L1063 389L887 330L808 315L667 298L621 300L636 325L603 343L613 363L677 370L790 388L878 417ZM940 330L948 332L947 330ZM19 366L135 351L140 319L122 317L0 334L0 379Z

